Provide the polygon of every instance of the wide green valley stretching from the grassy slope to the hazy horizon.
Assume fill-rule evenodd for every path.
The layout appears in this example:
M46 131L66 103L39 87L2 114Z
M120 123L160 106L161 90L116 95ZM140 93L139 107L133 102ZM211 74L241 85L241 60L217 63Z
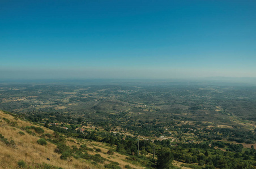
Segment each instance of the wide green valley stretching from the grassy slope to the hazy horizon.
M2 83L0 109L76 140L84 137L99 144L108 143L107 149L117 145L114 150L127 155L138 155L138 137L140 157L144 154L145 159L140 159L137 166L159 168L161 146L169 148L172 158L180 162L174 162L173 167L225 168L231 165L230 160L236 161L232 164L234 168L240 165L238 163L246 162L248 167L255 164L255 85L152 80L72 83ZM53 126L55 123L57 125ZM65 127L68 129L63 130ZM113 141L106 137L112 137ZM125 148L128 142L118 139L131 139L134 146ZM46 140L57 143L57 148L60 145L50 137ZM161 145L156 150L159 158L154 161L152 146L158 144ZM204 153L202 158L200 153L194 153L193 157L191 148L202 149L208 156ZM189 156L184 156L186 152ZM220 158L224 166L219 162L211 163L216 153L218 157L224 153ZM75 154L68 157L75 157Z

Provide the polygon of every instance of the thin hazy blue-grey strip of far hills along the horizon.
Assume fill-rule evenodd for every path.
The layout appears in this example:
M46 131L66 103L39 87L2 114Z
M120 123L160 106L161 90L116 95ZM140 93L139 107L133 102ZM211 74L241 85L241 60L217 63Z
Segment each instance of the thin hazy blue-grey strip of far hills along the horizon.
M188 79L0 79L0 83L52 83L52 84L146 84L146 85L169 85L169 84L216 84L216 85L256 85L256 77L205 77Z

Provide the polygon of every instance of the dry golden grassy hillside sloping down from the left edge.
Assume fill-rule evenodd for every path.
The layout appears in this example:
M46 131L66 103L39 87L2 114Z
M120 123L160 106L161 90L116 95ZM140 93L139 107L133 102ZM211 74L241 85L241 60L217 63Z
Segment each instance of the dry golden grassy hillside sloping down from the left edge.
M42 128L44 134L33 129L25 129L31 126ZM114 146L85 139L74 140L69 137L65 137L66 145L72 148L79 148L82 144L87 145L87 153L91 157L94 157L95 154L100 154L100 157L104 160L98 162L97 159L75 159L74 157L61 159L61 154L54 152L57 148L56 144L49 143L48 141L47 145L37 143L37 140L45 135L54 136L54 131L22 121L2 111L0 111L0 134L0 163L2 168L19 168L18 163L22 163L19 161L25 162L25 168L105 168L105 164L116 164L116 166L121 168L128 167L128 165L132 168L143 168L139 165L125 162L126 155L117 152L109 155L107 152L111 149L115 150ZM50 161L46 158L49 158Z

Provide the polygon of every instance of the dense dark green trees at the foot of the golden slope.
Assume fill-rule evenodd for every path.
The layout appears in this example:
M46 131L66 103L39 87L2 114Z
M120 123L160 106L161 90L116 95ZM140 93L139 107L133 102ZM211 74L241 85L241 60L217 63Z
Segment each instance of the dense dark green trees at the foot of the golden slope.
M123 135L100 131L87 131L86 134L79 134L74 131L70 133L69 136L117 145L117 152L138 158L138 138L136 137L124 137ZM158 166L159 168L165 168L172 164L171 161L173 159L185 163L198 164L199 166L206 166L208 168L228 168L229 166L231 168L254 168L254 166L256 166L256 162L254 161L256 159L256 151L254 148L242 153L241 150L243 146L241 144L211 141L200 144L189 143L177 145L178 146L172 146L170 140L140 140L139 155L140 158L146 157L145 155L148 153L153 154L155 149L157 161L154 161L152 157L143 158L143 161L148 161L147 167ZM227 152L215 149L216 146L219 148L227 148ZM142 161L142 159L140 160Z

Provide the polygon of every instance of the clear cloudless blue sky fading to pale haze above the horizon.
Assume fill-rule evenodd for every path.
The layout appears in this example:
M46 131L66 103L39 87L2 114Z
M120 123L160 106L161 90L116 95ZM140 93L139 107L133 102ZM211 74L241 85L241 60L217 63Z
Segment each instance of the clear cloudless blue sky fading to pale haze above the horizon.
M256 1L0 1L0 78L256 77Z

